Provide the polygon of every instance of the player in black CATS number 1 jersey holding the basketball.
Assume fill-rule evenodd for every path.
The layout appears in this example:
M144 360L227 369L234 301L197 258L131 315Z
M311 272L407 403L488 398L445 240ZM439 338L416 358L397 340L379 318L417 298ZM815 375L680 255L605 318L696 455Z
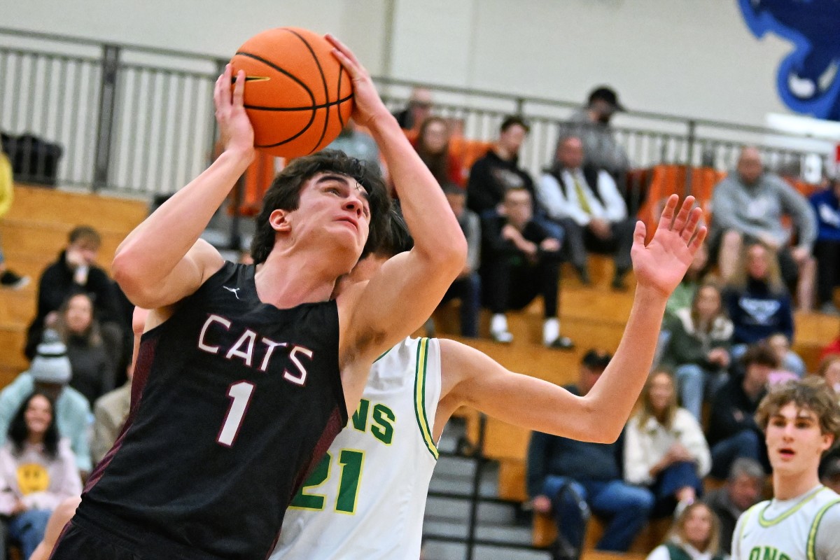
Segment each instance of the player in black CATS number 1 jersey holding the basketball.
M414 249L335 300L379 233L378 177L344 154L295 160L265 196L255 265L198 239L254 156L244 73L214 100L223 154L123 241L113 273L150 308L129 418L97 466L55 560L263 560L312 464L344 427L370 364L420 327L465 262L433 176L333 38L354 81L354 119L384 155ZM369 235L370 228L370 235Z

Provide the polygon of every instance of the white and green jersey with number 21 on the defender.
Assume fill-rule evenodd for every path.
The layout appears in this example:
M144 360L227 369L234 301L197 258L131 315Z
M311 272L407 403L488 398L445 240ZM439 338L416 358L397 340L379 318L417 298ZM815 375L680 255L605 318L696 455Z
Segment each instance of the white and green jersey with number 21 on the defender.
M359 410L286 510L270 560L417 560L439 398L436 339L406 338L377 359Z

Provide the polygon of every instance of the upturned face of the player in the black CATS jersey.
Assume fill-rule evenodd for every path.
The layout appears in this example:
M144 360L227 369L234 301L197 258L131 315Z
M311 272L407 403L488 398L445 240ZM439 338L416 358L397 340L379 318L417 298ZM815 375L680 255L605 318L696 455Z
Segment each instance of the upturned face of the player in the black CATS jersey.
M347 175L319 173L301 191L297 210L290 213L294 238L324 238L348 254L352 268L368 237L370 204L365 188Z

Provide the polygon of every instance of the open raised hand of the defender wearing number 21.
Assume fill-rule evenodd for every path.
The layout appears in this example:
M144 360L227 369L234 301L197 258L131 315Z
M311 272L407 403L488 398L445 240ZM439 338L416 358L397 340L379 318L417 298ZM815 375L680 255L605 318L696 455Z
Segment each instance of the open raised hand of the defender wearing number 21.
M638 285L670 296L688 270L694 254L706 239L706 226L700 226L702 211L694 206L694 196L686 196L674 216L680 196L671 195L659 217L659 226L647 247L643 222L636 222L633 233L633 272Z

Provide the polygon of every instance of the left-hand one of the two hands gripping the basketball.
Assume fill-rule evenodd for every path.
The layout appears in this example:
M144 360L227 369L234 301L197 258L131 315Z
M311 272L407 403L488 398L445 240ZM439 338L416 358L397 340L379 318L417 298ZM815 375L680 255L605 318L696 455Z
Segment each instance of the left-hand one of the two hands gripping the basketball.
M219 142L225 150L237 150L253 156L254 128L244 107L245 73L241 70L237 72L234 91L231 92L232 72L231 65L226 65L224 73L218 76L213 89Z

